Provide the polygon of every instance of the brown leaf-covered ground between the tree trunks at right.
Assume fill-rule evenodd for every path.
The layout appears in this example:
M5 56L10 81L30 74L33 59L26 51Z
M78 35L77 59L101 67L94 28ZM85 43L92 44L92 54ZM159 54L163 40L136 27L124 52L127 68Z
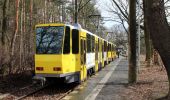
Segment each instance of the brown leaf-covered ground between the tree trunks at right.
M136 84L128 85L122 93L127 100L155 100L165 97L168 93L168 78L163 66L146 67L144 56Z

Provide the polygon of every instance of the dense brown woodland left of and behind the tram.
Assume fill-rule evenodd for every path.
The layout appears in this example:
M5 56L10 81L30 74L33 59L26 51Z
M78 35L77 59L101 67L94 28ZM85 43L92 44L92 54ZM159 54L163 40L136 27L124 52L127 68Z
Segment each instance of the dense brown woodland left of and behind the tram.
M78 21L91 32L97 26L89 16L100 13L94 5L91 0L81 0L78 5ZM0 8L1 76L33 70L36 24L74 23L74 4L69 0L1 0Z

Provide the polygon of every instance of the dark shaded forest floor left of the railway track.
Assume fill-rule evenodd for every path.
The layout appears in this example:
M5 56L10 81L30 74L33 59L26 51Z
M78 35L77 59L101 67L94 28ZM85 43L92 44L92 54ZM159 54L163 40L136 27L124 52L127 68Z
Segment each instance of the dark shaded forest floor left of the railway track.
M14 95L15 92L23 87L32 84L32 72L13 74L0 78L0 100L6 96Z

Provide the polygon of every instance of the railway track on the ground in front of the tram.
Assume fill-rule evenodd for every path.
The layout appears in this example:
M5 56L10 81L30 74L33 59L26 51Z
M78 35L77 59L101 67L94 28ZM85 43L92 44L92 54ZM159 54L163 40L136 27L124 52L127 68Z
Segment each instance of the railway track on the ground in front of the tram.
M56 87L57 86L57 87ZM15 91L15 93L10 93L0 100L29 100L29 99L42 99L44 96L52 98L55 100L61 100L72 92L79 85L77 84L46 84L41 86L40 84L31 84L29 86L23 87L20 90ZM49 88L47 88L49 87ZM51 96L49 94L52 94ZM36 98L38 97L38 98Z

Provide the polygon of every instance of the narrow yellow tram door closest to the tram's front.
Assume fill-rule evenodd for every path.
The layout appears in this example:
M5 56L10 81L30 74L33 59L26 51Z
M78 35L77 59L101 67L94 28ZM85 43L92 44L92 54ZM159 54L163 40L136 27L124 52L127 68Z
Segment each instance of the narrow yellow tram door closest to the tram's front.
M87 69L86 69L86 41L81 39L81 80L86 79Z

